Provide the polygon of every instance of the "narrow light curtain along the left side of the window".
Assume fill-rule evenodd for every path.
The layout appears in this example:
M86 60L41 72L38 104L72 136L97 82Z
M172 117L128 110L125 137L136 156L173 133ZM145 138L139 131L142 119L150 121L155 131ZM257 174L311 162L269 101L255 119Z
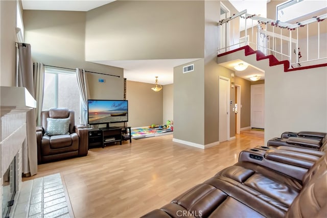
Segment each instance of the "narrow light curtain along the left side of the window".
M41 111L43 103L43 88L44 88L44 65L42 63L33 63L33 82L35 100L37 102L35 115L36 125L41 126Z

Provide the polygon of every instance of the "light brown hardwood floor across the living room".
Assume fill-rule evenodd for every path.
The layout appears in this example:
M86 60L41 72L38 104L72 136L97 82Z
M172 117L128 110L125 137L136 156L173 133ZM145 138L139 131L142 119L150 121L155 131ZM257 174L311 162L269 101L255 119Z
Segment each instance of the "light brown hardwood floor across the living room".
M235 140L201 150L172 141L173 135L91 149L86 157L38 165L24 181L60 173L75 217L139 217L238 161L264 139Z

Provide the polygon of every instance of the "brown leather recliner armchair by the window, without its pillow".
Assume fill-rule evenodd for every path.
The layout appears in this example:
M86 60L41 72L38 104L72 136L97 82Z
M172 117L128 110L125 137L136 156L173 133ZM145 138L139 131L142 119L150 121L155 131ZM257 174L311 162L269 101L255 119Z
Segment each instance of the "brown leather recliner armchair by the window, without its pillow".
M62 135L47 134L47 118L69 118L68 132ZM42 111L41 126L36 128L38 164L70 157L86 156L88 130L85 128L83 125L75 126L75 112L67 108L52 108Z

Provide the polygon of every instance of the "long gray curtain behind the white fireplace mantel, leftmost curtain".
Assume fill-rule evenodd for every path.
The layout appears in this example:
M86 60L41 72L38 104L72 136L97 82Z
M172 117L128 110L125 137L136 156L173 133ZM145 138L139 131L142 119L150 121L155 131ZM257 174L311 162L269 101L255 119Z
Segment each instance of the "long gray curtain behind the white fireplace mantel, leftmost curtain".
M17 77L18 86L25 87L35 98L33 85L33 64L31 58L31 45L17 43ZM26 114L27 140L22 145L22 173L37 173L37 144L36 144L36 123L35 109Z

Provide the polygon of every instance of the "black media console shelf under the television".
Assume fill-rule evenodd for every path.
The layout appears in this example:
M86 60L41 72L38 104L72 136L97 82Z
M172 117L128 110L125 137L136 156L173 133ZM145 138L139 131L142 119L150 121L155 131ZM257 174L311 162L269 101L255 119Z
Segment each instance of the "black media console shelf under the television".
M105 129L88 130L88 148L102 147L109 143L120 142L123 140L132 142L131 127L110 127Z

